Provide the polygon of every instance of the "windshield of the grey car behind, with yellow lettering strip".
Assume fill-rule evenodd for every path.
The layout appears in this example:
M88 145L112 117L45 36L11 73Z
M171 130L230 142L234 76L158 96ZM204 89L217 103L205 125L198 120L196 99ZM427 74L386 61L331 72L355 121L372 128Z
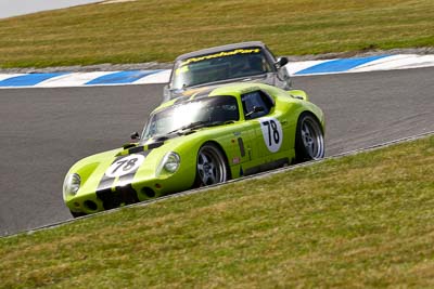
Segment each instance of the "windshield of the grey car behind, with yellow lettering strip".
M171 88L183 89L269 71L271 67L260 48L235 49L178 61Z

